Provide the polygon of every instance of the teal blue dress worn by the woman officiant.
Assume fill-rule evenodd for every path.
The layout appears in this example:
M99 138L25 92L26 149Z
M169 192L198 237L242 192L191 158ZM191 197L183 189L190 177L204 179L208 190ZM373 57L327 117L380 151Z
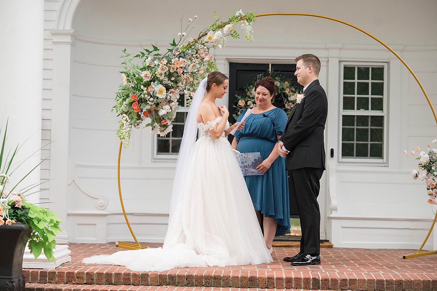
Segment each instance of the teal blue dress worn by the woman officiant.
M237 121L241 121L246 110ZM265 116L264 116L265 115ZM276 146L276 135L282 135L287 124L287 114L280 108L250 114L244 128L237 130L235 139L239 152L260 152L267 159ZM276 236L290 233L290 206L288 197L288 176L285 158L278 156L264 175L246 176L247 189L252 198L255 211L267 217L276 218Z

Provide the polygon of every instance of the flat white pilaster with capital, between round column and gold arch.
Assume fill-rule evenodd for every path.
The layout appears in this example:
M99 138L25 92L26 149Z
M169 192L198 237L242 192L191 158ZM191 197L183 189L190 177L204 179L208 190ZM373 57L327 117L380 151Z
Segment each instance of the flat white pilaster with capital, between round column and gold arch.
M70 67L74 30L55 29L50 32L53 35L53 77L49 197L50 202L55 203L50 203L49 208L61 218L61 229L67 234ZM57 238L56 241L60 239ZM67 240L67 237L62 238L62 242L64 239Z

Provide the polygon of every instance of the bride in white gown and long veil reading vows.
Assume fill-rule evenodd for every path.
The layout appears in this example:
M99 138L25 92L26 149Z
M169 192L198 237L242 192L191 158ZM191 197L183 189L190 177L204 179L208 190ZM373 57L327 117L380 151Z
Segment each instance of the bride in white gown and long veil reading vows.
M225 138L238 124L229 127L228 109L215 105L215 99L227 93L228 84L227 76L212 72L194 94L177 159L163 247L92 256L83 263L164 271L273 262L243 174Z

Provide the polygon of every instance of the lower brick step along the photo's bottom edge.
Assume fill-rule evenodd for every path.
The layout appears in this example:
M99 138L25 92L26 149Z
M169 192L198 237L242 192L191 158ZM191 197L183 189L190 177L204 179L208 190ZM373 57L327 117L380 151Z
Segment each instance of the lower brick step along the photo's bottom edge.
M259 288L215 288L215 287L168 287L168 286L133 286L133 285L70 285L70 284L33 284L27 283L25 291L281 291L286 289ZM305 291L303 289L296 291ZM319 290L326 291L326 290Z

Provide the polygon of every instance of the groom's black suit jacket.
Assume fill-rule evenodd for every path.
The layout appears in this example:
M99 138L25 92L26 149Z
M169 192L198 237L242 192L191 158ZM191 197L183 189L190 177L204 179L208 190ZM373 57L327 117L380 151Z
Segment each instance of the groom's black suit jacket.
M287 170L306 167L325 168L325 129L328 114L328 99L319 80L314 80L305 89L301 103L291 110L284 134L279 139L284 143L287 155Z

